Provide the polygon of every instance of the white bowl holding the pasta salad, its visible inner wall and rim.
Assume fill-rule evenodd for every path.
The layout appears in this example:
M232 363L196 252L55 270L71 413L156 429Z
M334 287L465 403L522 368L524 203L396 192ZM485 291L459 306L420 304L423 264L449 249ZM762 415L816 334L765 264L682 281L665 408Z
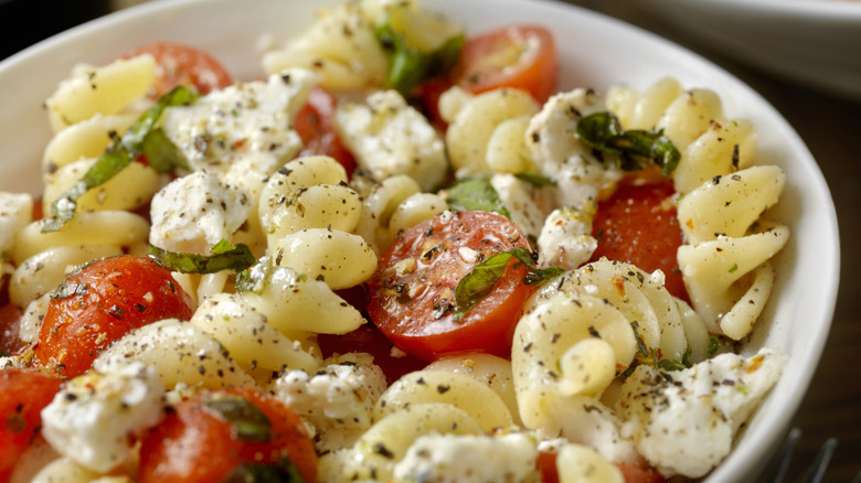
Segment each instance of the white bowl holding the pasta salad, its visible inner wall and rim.
M42 150L50 139L41 104L77 62L107 63L144 42L188 42L214 54L240 79L263 76L262 36L299 32L320 7L300 0L172 0L144 3L51 37L0 63L0 152L6 191L40 192ZM828 187L798 135L762 96L714 64L628 24L540 0L439 0L427 7L481 31L509 22L550 28L562 60L561 88L644 89L671 75L687 87L720 94L729 116L748 118L759 135L758 162L787 174L775 215L791 229L776 259L778 279L764 320L743 344L790 355L786 372L729 459L706 481L750 481L798 408L819 362L835 308L839 271L837 218Z

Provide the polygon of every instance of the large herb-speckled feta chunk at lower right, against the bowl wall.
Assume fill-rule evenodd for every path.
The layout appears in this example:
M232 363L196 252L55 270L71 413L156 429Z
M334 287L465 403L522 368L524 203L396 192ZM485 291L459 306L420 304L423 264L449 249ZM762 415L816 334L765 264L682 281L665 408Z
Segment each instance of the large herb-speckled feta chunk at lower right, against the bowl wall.
M623 433L665 476L700 477L730 453L735 431L785 364L785 355L763 348L751 358L721 354L679 372L639 366L621 388Z

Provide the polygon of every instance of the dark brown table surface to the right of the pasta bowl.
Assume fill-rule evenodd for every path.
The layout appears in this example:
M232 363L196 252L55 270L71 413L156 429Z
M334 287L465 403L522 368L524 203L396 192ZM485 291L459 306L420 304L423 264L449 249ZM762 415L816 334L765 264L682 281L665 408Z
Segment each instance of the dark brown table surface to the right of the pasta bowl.
M657 33L731 72L786 117L819 163L837 207L840 291L821 362L793 420L802 436L787 482L800 480L819 447L831 437L838 439L838 447L823 481L852 481L861 472L861 310L852 305L853 300L861 302L861 282L852 277L861 273L861 104L727 58L650 15L636 1L566 1Z

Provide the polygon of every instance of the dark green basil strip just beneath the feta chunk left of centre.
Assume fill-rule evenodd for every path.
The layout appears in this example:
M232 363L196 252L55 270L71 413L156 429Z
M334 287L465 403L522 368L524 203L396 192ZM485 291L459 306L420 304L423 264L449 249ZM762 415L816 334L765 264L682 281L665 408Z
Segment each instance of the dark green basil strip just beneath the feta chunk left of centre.
M257 262L246 245L233 245L224 239L215 244L211 253L213 255L205 256L168 251L153 245L149 246L150 256L161 261L168 269L182 273L216 273L222 270L242 272Z

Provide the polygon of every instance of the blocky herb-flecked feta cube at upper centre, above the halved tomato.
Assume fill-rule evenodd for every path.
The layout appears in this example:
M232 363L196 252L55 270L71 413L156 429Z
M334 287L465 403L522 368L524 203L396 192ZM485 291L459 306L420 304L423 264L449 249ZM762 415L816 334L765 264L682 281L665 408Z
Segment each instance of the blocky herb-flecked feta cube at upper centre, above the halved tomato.
M334 126L360 167L379 181L406 174L429 192L445 179L442 138L395 90L371 94L366 104L340 105Z

